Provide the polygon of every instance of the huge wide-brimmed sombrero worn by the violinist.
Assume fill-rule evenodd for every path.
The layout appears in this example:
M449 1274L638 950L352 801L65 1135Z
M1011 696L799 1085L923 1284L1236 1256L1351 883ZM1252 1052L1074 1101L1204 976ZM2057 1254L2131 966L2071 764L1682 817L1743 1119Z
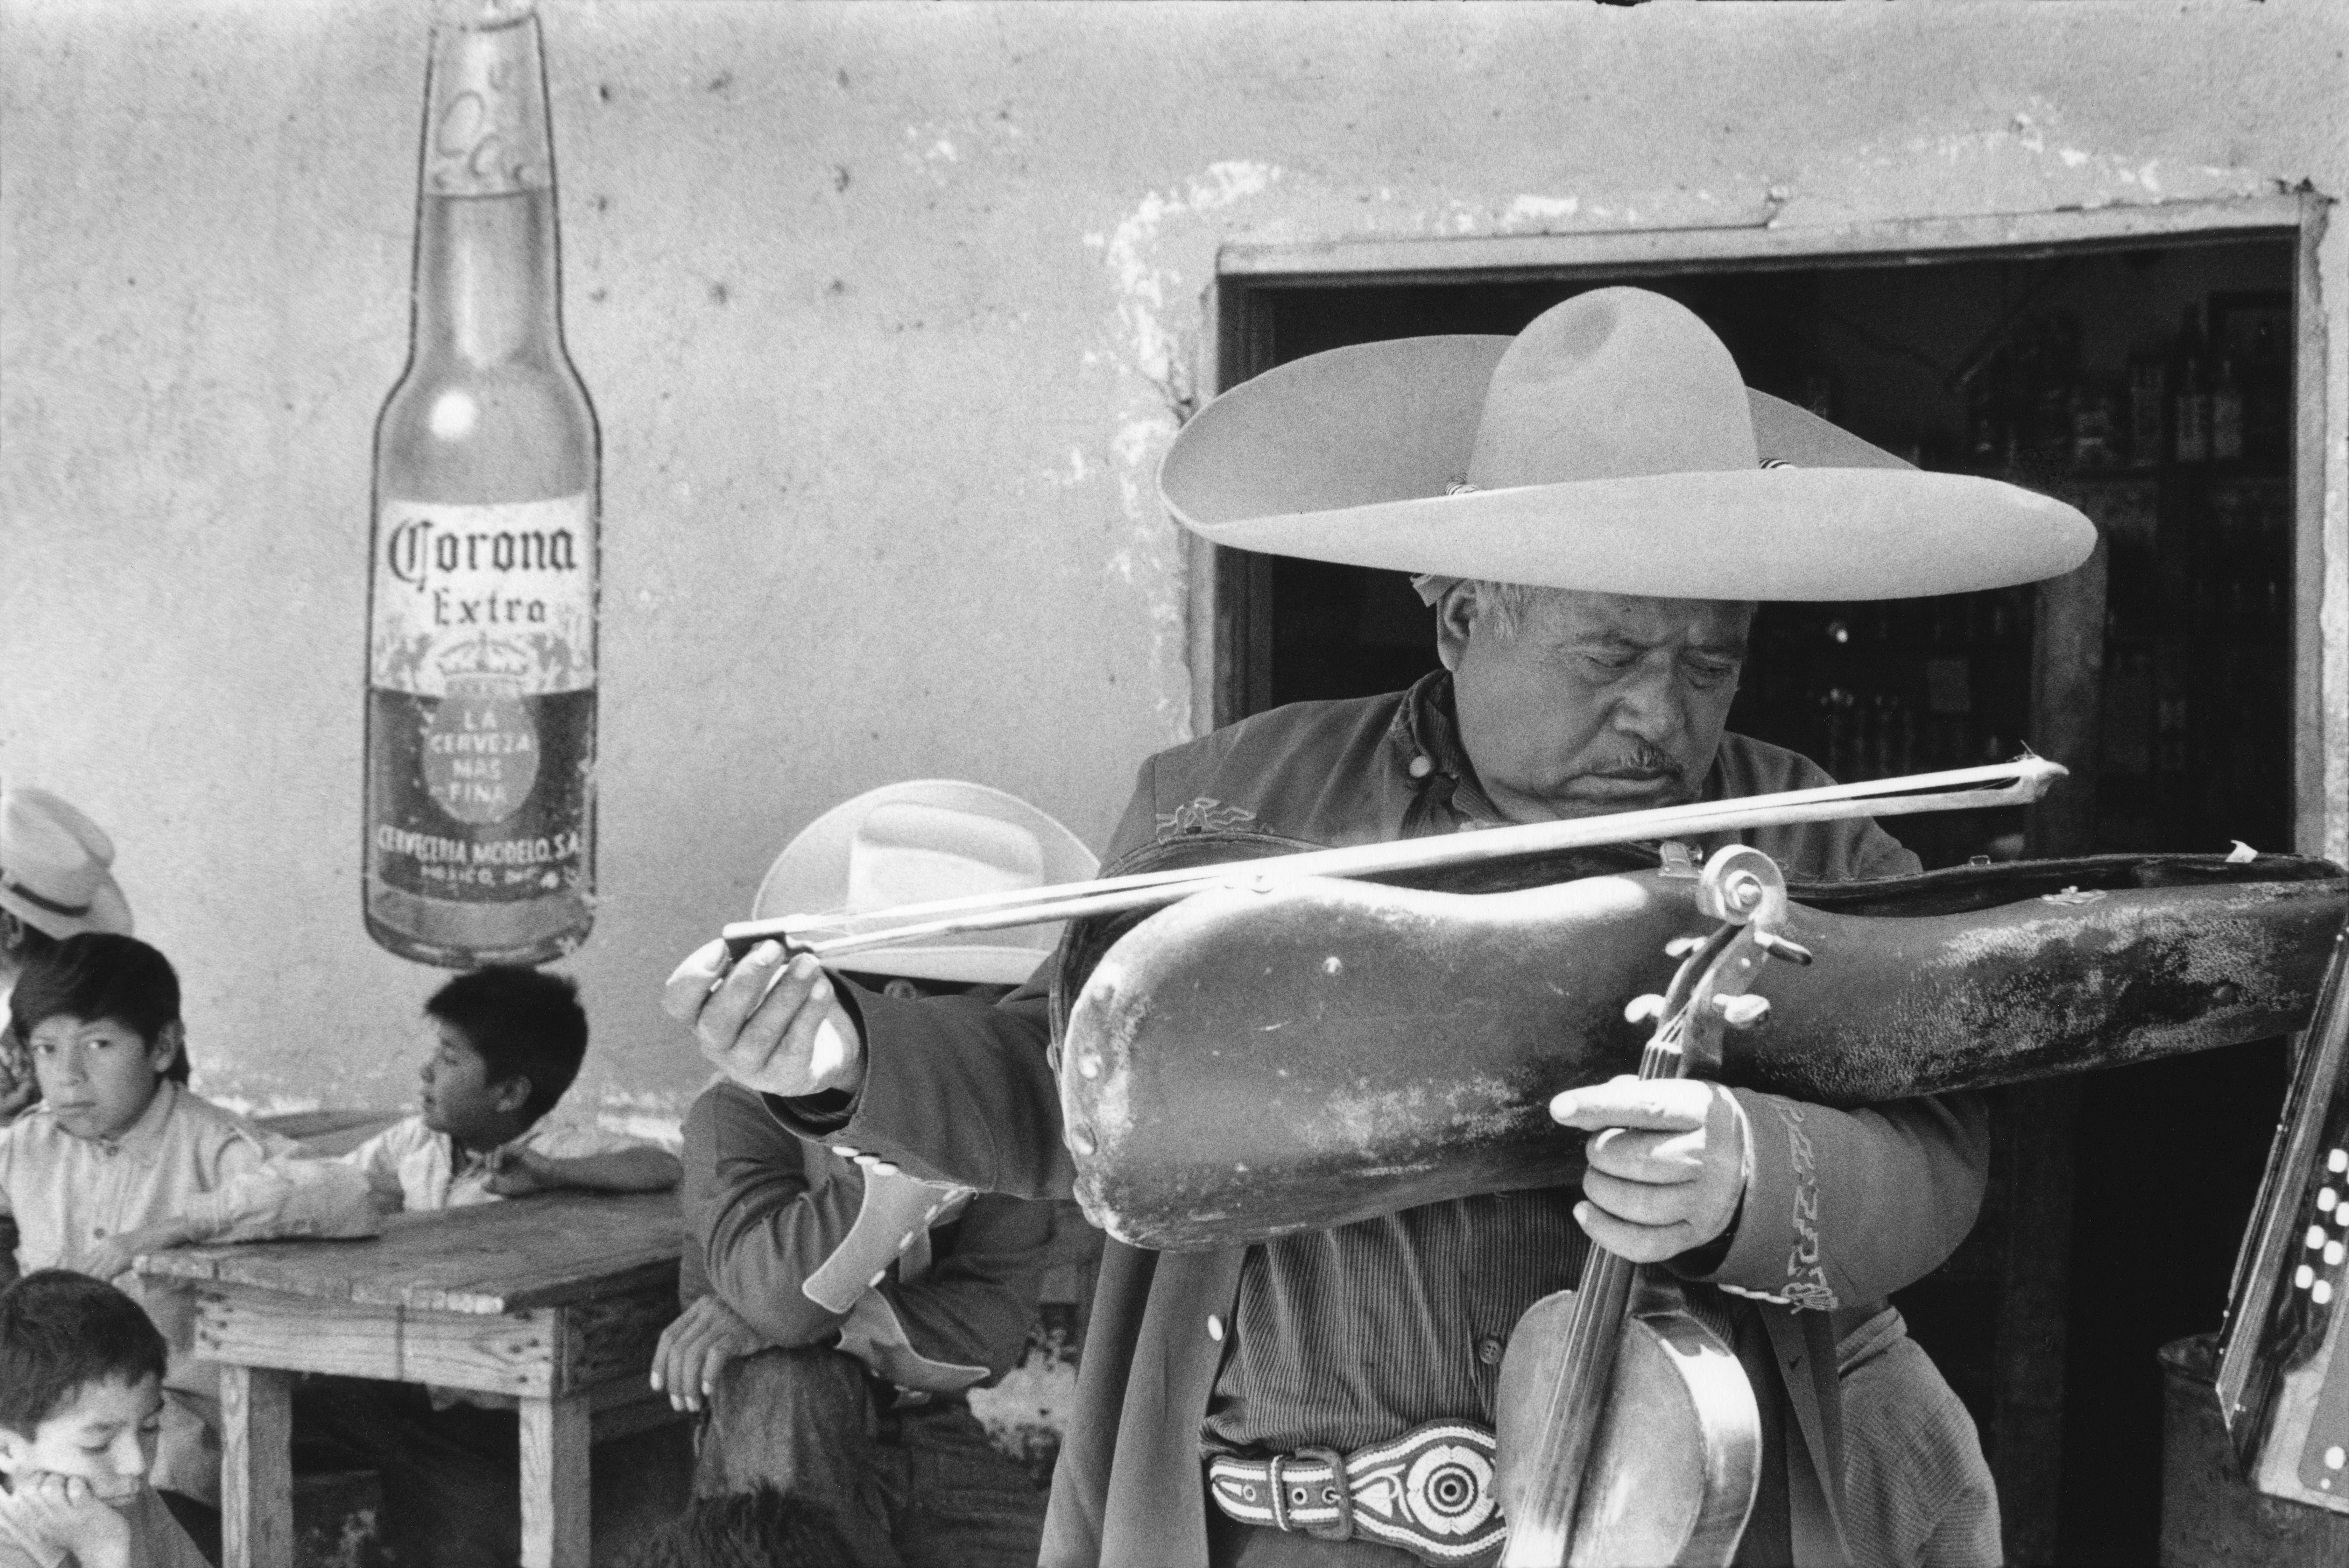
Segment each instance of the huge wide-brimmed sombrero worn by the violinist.
M1217 545L1670 599L1910 599L2088 559L2077 509L1926 474L1745 387L1691 310L1593 289L1515 338L1362 343L1184 425L1167 512Z

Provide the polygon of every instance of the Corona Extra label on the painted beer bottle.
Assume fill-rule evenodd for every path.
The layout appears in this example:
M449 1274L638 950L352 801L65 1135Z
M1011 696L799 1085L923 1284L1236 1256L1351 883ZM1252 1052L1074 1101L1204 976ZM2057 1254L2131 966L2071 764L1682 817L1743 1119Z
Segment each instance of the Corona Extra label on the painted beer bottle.
M580 871L594 763L587 495L385 500L369 636L369 864L456 901Z

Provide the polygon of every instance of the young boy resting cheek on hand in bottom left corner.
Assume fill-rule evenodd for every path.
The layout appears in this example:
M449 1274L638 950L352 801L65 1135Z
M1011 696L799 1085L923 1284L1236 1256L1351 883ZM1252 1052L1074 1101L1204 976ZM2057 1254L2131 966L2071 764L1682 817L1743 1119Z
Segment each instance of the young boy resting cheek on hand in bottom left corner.
M148 1486L169 1350L122 1291L0 1289L0 1568L204 1568Z

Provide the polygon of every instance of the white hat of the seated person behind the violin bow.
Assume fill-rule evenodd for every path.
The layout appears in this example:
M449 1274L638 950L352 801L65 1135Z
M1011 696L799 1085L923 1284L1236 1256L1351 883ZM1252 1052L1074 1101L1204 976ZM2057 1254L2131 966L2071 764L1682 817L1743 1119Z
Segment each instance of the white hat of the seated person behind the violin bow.
M862 915L987 892L1083 883L1092 850L1019 796L963 779L883 784L834 805L785 845L752 920ZM1050 958L1059 922L961 932L857 953L843 967L909 979L1017 986Z

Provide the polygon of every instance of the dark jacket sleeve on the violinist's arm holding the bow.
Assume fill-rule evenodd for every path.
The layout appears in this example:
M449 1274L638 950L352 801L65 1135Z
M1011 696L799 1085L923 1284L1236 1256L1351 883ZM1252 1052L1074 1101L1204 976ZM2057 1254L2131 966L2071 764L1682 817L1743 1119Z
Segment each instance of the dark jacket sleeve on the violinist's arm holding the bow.
M1158 831L1156 765L1109 843L1109 861ZM846 1120L813 1101L768 1096L775 1120L897 1164L907 1176L1010 1197L1071 1197L1076 1167L1062 1145L1059 1084L1045 1061L1050 998L1029 981L998 1005L970 998L900 1002L841 981L864 1035L864 1084Z

